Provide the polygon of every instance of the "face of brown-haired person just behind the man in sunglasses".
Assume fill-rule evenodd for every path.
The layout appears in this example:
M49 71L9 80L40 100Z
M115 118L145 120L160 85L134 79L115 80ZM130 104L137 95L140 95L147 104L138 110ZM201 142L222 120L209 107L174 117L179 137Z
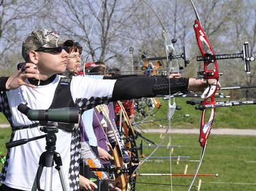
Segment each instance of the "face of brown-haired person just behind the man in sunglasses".
M81 71L81 55L79 52L70 52L68 58L67 70L73 73L78 73Z

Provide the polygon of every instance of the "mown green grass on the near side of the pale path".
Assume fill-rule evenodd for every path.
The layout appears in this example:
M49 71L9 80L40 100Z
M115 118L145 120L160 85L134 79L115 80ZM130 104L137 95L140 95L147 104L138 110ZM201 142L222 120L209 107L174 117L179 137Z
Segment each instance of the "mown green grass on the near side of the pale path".
M0 128L0 151L5 152L5 142L9 140L10 129ZM159 142L159 134L147 134L149 139ZM171 144L180 145L173 150L172 156L190 156L184 160L198 160L201 154L197 135L171 135ZM254 191L256 190L256 137L250 136L224 136L212 135L208 141L205 158L199 173L218 173L219 177L201 177L201 190L225 190L225 191ZM165 143L169 142L169 137ZM151 149L144 149L145 155L150 154ZM169 156L167 148L159 148L154 156ZM161 159L159 159L161 160ZM167 160L167 159L164 159ZM182 160L182 159L181 159ZM184 173L188 164L187 173L195 173L197 162L172 161L172 173ZM169 161L144 162L138 173L170 173ZM195 186L198 184L198 178ZM138 182L151 182L169 184L169 177L137 177ZM192 177L173 177L173 190L187 190ZM184 187L185 186L185 187ZM137 190L170 190L170 186L155 186L137 184ZM197 188L193 188L197 190Z

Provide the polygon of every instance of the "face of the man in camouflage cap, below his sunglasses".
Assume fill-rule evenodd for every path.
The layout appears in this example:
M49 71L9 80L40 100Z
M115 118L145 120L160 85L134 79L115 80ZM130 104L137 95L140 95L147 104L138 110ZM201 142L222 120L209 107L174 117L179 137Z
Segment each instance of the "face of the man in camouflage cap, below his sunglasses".
M51 76L66 71L69 59L66 50L61 50L61 52L36 52L36 54L38 55L37 67L40 74Z

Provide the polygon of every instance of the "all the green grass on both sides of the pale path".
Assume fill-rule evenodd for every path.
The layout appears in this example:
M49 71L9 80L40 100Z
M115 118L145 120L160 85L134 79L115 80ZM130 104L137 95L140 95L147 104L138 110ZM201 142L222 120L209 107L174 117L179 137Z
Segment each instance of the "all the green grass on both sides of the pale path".
M161 102L162 100L159 99ZM195 110L192 105L187 105L184 98L176 99L176 104L182 110L175 111L175 116L190 114L189 118L177 118L172 121L172 128L199 128L201 111ZM162 102L162 107L155 116L147 120L166 118L167 103ZM214 118L214 128L256 128L256 112L254 105L242 107L217 108ZM0 124L7 123L0 114ZM158 124L165 125L167 121L146 123L140 125L142 128L159 128ZM146 134L145 137L159 142L159 134ZM10 128L0 128L0 152L5 154L5 142L10 139ZM212 135L208 141L205 158L199 173L218 173L219 177L198 177L195 181L197 186L201 179L201 190L225 190L225 191L255 191L256 190L256 137L250 136L226 136ZM165 139L165 145L169 142L169 136ZM180 145L174 149L172 156L190 156L184 160L199 160L201 147L198 142L198 135L171 135L171 144ZM144 148L143 153L147 156L152 149ZM169 156L167 148L159 148L154 156ZM154 159L153 159L154 160ZM158 159L162 160L162 159ZM167 160L167 159L163 159ZM182 159L181 159L182 160ZM188 164L187 173L195 173L198 162L172 163L172 173L184 173ZM0 164L1 168L1 164ZM170 173L170 162L144 162L137 173ZM183 191L193 177L173 177L173 190ZM170 177L137 177L137 182L150 182L158 184L170 184ZM137 190L171 190L170 186L152 184L137 184ZM193 190L197 190L196 187Z

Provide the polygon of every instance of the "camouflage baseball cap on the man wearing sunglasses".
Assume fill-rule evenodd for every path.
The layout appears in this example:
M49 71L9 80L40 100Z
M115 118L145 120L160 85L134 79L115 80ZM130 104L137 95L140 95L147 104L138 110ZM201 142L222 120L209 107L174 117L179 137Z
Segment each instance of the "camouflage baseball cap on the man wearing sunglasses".
M65 37L60 37L55 31L49 29L36 29L30 33L23 41L22 56L27 60L29 51L38 48L57 48L59 46L72 46L74 41Z

